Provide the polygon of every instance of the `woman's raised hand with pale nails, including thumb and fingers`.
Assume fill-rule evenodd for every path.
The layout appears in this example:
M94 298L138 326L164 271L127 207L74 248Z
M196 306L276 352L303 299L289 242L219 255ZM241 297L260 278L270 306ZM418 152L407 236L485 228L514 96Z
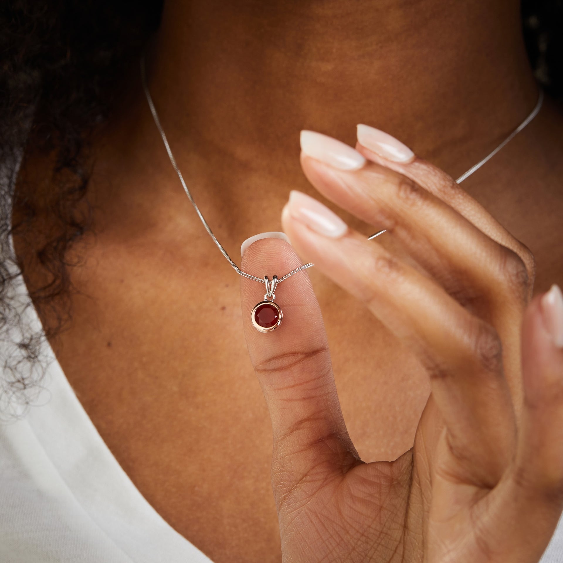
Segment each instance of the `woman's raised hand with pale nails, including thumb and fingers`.
M414 447L394 462L362 462L308 276L279 286L283 324L269 334L252 327L261 294L242 279L248 348L274 432L283 560L535 563L563 505L561 294L528 304L528 249L444 172L381 133L363 129L362 138L379 155L304 132L303 169L326 198L387 229L409 260L298 192L284 230L303 260L418 355L432 392ZM281 276L300 263L287 243L263 239L242 266Z

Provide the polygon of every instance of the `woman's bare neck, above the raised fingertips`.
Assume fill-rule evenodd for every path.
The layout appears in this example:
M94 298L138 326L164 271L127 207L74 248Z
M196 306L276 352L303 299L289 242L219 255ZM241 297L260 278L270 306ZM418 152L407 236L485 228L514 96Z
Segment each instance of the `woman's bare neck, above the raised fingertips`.
M515 0L168 0L149 83L177 152L282 173L300 129L364 122L457 174L534 105L520 26Z

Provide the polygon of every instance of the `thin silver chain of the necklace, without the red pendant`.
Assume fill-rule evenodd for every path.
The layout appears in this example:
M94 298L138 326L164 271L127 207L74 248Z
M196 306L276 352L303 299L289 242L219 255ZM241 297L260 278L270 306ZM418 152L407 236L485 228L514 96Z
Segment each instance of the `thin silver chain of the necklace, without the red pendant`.
M265 283L264 278L257 278L257 276L253 276L251 274L247 274L247 272L243 272L233 262L233 260L231 259L231 257L227 253L227 251L222 247L222 244L217 240L216 236L213 234L213 231L211 230L211 227L207 224L207 221L205 221L205 217L203 216L202 212L199 211L199 207L195 203L195 200L194 200L193 196L191 195L191 192L188 189L186 182L184 181L184 177L182 176L182 172L180 171L180 168L178 168L178 165L176 164L176 159L174 158L174 155L172 154L172 149L170 148L170 145L168 144L168 139L166 137L166 133L164 133L164 129L163 129L162 124L160 123L160 119L158 117L157 109L154 106L153 98L150 95L149 86L146 82L145 57L144 56L141 56L140 62L141 62L142 87L143 87L143 90L145 91L146 100L149 103L150 113L153 114L154 123L156 124L157 129L160 133L160 136L162 137L162 140L164 142L164 146L166 147L166 152L168 153L168 158L170 159L170 162L172 163L172 167L174 168L176 174L178 175L178 178L180 178L180 182L182 184L182 187L184 188L184 191L187 195L187 198L190 200L190 203L193 205L195 212L198 214L198 217L200 218L200 220L203 223L203 226L205 227L205 230L208 232L209 236L211 236L213 242L215 243L217 248L221 251L221 254L223 254L223 256L227 259L227 261L230 263L230 265L233 267L233 269L235 270L235 272L237 274L239 274L240 276L243 276L243 278L248 278L249 280L253 280L254 282ZM461 182L463 182L463 180L465 180L466 178L471 176L473 172L475 172L479 168L481 168L481 166L483 166L483 164L485 164L491 158L493 158L494 155L497 154L499 150L501 150L518 133L520 133L520 131L522 131L522 129L524 129L524 127L526 127L526 125L528 125L528 123L530 123L531 120L534 119L534 117L536 115L538 115L539 110L542 108L542 103L543 103L543 90L540 90L539 96L538 96L538 102L535 105L535 108L531 111L530 115L528 115L528 117L526 117L526 119L524 119L524 121L522 123L520 123L520 125L514 131L512 131L512 133L510 135L508 135L508 137L506 139L504 139L504 141L500 145L497 146L497 148L495 148L491 153L489 153L484 159L480 160L477 164L475 164L470 169L468 169L467 172L465 172L464 174L459 176L459 178L457 180L455 180L456 184L461 184ZM368 240L373 240L374 238L376 238L376 236L382 235L385 232L386 232L385 229L383 229L382 231L378 231L377 233L369 236ZM297 272L300 272L301 270L305 270L306 268L310 268L311 266L314 266L314 264L312 262L309 262L307 264L302 264L301 266L299 266L295 270L292 270L291 272L288 272L288 274L285 274L284 276L282 276L282 278L280 278L278 280L278 283L282 283L284 280L287 280L293 274L297 274Z

